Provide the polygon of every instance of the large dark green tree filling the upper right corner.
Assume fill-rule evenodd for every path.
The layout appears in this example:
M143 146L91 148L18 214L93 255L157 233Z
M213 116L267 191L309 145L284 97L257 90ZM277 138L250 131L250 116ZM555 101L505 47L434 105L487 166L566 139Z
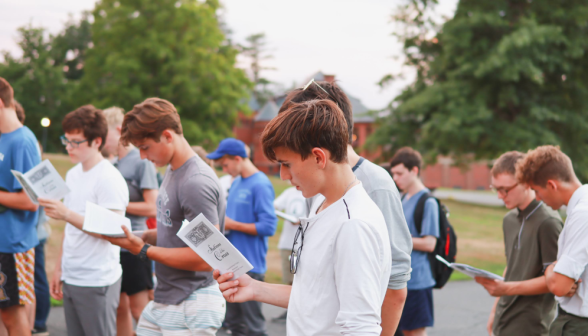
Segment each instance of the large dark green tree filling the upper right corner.
M588 2L462 0L442 26L430 5L415 0L396 16L417 76L371 143L388 154L414 146L430 162L557 144L588 177Z

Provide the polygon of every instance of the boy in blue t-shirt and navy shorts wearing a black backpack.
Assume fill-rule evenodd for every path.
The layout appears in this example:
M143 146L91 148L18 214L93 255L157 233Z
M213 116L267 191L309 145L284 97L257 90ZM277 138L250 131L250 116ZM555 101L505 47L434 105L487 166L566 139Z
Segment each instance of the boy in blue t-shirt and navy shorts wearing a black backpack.
M409 147L400 148L390 162L394 182L404 192L402 209L412 235L412 276L407 283L408 294L398 324L398 329L402 330L405 336L425 336L425 328L432 327L434 323L435 279L427 254L435 250L439 238L439 207L437 201L432 198L425 202L419 232L414 222L414 211L419 199L430 193L419 178L422 163L419 152Z

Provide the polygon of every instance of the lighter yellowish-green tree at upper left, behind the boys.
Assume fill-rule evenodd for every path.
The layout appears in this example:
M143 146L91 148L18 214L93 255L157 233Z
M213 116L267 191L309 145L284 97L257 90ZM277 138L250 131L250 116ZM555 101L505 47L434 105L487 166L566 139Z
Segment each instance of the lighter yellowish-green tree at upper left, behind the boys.
M250 88L219 27L216 0L102 0L93 11L79 104L130 110L170 100L188 141L210 147L231 134Z

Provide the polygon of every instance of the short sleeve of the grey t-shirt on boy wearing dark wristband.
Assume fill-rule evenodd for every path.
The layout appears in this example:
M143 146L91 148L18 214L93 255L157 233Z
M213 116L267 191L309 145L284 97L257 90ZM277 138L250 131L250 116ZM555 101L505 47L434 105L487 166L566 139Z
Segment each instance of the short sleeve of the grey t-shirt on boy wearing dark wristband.
M218 207L221 191L215 181L202 174L192 175L182 181L179 191L184 218L192 220L203 214L213 224L220 224Z

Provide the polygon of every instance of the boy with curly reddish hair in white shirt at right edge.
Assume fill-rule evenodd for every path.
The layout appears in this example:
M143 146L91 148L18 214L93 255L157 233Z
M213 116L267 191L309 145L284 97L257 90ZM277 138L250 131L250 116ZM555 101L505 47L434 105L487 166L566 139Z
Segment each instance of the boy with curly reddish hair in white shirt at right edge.
M517 164L516 177L553 209L567 206L557 261L545 269L547 288L559 303L549 335L588 335L588 186L580 183L572 160L555 146L530 150Z

